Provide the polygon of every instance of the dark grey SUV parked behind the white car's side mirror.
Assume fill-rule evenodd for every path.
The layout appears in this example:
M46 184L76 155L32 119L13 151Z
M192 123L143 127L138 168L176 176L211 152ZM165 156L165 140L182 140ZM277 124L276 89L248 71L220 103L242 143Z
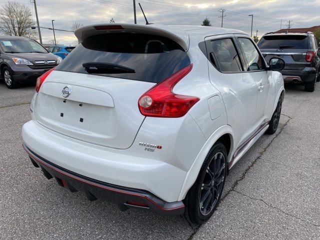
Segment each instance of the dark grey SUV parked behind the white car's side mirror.
M284 81L303 82L305 91L314 91L320 81L320 52L312 32L267 33L258 42L266 61L281 57Z

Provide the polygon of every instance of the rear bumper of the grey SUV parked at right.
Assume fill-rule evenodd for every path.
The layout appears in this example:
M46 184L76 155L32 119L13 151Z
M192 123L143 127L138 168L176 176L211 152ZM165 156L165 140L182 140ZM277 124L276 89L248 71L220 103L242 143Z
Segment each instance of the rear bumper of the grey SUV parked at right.
M315 78L316 70L312 67L305 67L303 70L281 70L284 82L288 81L312 81Z

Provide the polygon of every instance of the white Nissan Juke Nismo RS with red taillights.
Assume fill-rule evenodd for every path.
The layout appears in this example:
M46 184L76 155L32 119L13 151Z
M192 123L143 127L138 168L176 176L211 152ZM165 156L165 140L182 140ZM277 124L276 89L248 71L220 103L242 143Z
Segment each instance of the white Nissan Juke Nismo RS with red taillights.
M225 178L284 97L280 58L244 32L203 26L98 24L37 79L23 146L47 178L120 209L203 223Z

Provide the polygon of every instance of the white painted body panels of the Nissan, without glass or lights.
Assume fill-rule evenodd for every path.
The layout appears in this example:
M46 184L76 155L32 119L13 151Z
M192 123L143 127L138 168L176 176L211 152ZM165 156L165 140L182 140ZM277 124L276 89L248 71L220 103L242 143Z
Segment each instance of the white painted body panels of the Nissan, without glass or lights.
M279 72L266 70L221 73L198 45L221 36L249 37L244 32L199 26L122 25L180 43L193 67L173 92L200 100L182 117L145 117L137 101L155 83L54 70L32 98L32 120L23 125L22 138L33 152L65 169L147 190L167 202L179 201L219 137L230 137L228 162L232 167L264 133L284 92L283 79ZM80 28L76 35L83 39L97 34L87 29ZM258 89L260 84L265 86L262 90ZM72 89L66 99L71 102L68 106L61 95L63 86ZM61 111L66 122L59 121ZM79 122L82 115L86 117ZM146 151L139 142L162 148Z

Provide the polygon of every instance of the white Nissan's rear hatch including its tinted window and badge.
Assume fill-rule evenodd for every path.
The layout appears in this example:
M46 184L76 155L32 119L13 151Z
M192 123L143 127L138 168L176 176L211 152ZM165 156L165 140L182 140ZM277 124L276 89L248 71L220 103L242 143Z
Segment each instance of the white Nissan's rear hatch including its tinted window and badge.
M91 35L43 82L35 119L78 140L128 148L144 119L139 97L189 63L185 50L166 37L131 32Z

